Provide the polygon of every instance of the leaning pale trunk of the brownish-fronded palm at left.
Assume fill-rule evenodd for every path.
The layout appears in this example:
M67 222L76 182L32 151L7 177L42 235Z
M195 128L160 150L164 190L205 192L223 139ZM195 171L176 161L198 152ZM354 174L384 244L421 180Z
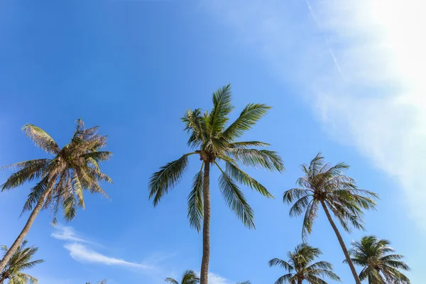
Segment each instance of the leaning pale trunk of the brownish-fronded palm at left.
M38 202L35 205L33 212L31 212L30 217L28 218L28 221L26 222L25 226L23 226L21 234L19 234L18 238L16 238L15 242L13 242L13 245L4 255L4 258L0 261L0 271L4 270L7 263L9 262L9 259L11 259L11 257L13 256L13 253L15 253L18 247L21 246L23 239L25 239L26 235L28 234L28 231L30 231L31 226L33 225L35 217L37 217L38 212L40 212L40 210L43 208L43 204L45 202L46 197L48 196L49 192L52 191L53 185L55 185L55 180L56 175L50 179L45 192L43 192L43 194L40 195L40 198L38 198Z

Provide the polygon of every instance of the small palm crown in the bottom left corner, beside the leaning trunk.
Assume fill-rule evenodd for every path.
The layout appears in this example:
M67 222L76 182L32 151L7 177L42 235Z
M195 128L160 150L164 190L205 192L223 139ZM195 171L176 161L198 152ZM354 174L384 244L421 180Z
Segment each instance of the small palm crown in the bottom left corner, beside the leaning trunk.
M34 254L38 251L38 248L33 246L26 247L28 241L24 240L18 249L13 253L9 259L6 267L0 273L0 284L4 281L9 280L9 284L37 284L38 280L33 276L23 273L26 269L33 268L39 263L43 263L42 259L31 261ZM7 246L1 246L1 249L6 253L8 251Z

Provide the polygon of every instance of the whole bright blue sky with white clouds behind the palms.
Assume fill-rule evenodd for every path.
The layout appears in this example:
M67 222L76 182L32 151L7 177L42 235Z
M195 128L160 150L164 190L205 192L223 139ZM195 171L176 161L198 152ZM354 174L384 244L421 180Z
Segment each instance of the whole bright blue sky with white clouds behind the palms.
M422 279L426 219L426 58L419 38L424 4L413 1L3 1L0 9L0 164L45 157L20 129L42 127L60 145L75 119L100 125L114 157L111 200L87 195L75 221L50 226L40 214L28 241L45 263L41 284L163 283L200 267L201 235L186 219L191 171L157 208L151 173L187 151L180 117L211 107L231 82L236 112L250 102L273 106L245 138L271 143L287 171L249 172L275 195L246 195L256 230L226 207L212 173L210 282L273 283L273 257L300 243L301 219L281 202L300 163L322 151L345 161L360 187L378 192L368 233L390 239ZM398 20L398 21L397 21ZM419 22L420 21L420 22ZM422 72L423 70L423 72ZM4 182L10 172L0 173ZM31 185L0 195L0 244L10 245ZM347 244L364 232L343 234ZM310 244L322 249L344 283L349 268L322 213ZM420 248L419 248L420 246Z

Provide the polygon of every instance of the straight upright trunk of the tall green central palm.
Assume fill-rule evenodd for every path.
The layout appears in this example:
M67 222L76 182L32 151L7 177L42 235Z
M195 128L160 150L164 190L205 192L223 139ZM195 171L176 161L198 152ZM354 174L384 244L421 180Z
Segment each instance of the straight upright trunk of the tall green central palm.
M204 198L204 219L202 223L202 261L200 284L207 284L210 259L210 163L204 163L204 181L202 185Z

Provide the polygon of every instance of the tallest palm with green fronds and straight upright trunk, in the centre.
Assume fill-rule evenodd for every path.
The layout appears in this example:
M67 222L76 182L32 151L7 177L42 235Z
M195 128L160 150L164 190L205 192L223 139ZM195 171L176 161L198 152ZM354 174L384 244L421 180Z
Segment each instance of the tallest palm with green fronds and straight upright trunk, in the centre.
M231 86L228 84L218 89L213 94L212 111L206 111L203 114L201 109L187 110L185 116L182 117L186 126L185 130L190 134L187 144L193 151L164 165L151 176L149 198L153 198L155 206L168 190L180 182L187 169L190 155L197 155L202 161L200 171L195 175L192 190L188 196L187 214L192 227L200 231L202 226L201 284L207 284L209 271L210 166L217 166L219 169L219 190L226 203L249 228L254 227L253 210L247 203L238 183L251 187L263 196L273 196L263 185L241 170L239 164L268 170L281 171L284 169L283 162L277 153L257 148L269 144L259 141L236 141L251 129L270 108L265 104L248 104L239 117L228 125L229 114L234 109L231 104ZM224 163L226 168L222 168L219 162Z

